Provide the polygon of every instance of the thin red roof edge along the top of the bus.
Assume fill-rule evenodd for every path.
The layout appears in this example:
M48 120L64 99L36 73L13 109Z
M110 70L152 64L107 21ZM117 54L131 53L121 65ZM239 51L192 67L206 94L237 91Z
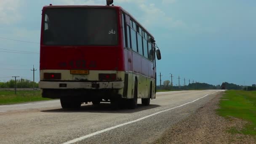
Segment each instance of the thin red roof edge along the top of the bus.
M125 9L123 9L121 6L107 6L107 5L45 5L43 7L43 9L45 9L45 8L116 8L118 10L122 10L123 12L125 12L125 14L130 16L137 24L139 24L139 26L142 29L144 29L150 35L150 37L152 37L154 39L153 35L151 35L150 32L147 31L147 29L145 29L130 13L125 11Z

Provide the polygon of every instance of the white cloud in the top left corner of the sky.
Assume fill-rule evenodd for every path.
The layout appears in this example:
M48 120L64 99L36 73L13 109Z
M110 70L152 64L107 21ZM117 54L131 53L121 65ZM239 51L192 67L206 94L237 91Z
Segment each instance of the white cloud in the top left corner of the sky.
M11 24L19 21L19 0L0 0L0 24Z

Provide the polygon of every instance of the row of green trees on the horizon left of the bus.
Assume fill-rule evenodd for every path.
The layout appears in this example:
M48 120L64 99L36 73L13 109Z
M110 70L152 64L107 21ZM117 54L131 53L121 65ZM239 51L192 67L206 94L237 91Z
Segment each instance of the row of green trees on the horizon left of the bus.
M22 81L16 80L16 85L17 88L33 88L33 85L35 85L35 88L38 88L38 83L27 79L22 79ZM15 80L0 82L0 88L15 88Z

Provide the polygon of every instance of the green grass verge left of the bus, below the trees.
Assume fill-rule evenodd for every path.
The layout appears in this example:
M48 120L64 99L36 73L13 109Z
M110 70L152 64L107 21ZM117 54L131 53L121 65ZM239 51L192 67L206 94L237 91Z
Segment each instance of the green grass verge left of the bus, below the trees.
M29 101L44 101L50 100L42 98L40 91L17 91L17 94L14 94L14 91L9 90L0 90L0 105L1 104L16 104Z

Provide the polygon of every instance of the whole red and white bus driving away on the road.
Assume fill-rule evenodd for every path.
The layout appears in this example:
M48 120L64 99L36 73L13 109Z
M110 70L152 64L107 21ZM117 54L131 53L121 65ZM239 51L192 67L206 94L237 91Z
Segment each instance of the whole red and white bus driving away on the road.
M154 37L119 6L49 5L42 11L42 96L62 108L82 103L137 99L149 105L156 93Z

